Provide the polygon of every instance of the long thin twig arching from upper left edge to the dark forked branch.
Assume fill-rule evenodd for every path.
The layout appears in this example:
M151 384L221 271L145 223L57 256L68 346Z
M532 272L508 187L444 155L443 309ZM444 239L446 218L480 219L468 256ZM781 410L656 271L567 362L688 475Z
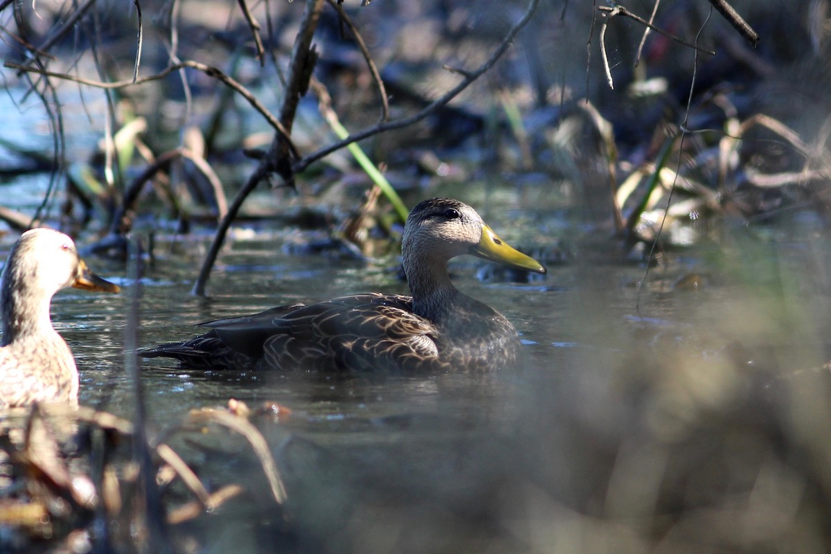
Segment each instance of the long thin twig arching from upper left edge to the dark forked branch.
M288 131L285 130L285 128L283 127L283 124L281 124L272 115L272 113L268 111L268 108L266 108L260 101L257 100L256 96L253 96L253 94L250 91L248 91L248 89L245 88L245 86L243 86L238 81L234 80L233 77L225 75L225 73L218 67L206 66L204 63L200 63L199 61L185 60L176 63L172 66L165 67L165 69L163 69L159 73L156 73L155 75L141 77L140 79L136 79L135 81L133 81L132 79L128 79L125 81L113 81L110 83L102 81L93 81L91 79L84 79L82 77L71 76L66 73L58 73L57 71L47 71L36 67L22 66L20 64L13 63L12 61L4 62L3 66L8 67L10 69L27 71L29 73L36 73L42 76L56 77L57 79L63 79L65 81L74 81L76 83L81 83L81 85L95 86L96 88L101 89L120 89L125 88L126 86L141 85L143 83L150 81L159 81L160 79L169 76L170 73L173 73L174 71L179 71L183 67L190 67L197 71L202 71L205 75L209 77L214 77L214 79L220 81L225 86L229 86L229 88L234 89L234 91L236 91L239 96L242 96L245 100L247 100L248 103L252 105L253 109L257 110L257 112L260 115L262 115L266 121L268 121L268 124L271 125L274 128L274 130L278 132L278 134L283 136L283 140L287 141L288 148L289 150L291 150L292 154L295 157L299 155L297 154L297 148L295 148L291 140L291 137L289 136Z

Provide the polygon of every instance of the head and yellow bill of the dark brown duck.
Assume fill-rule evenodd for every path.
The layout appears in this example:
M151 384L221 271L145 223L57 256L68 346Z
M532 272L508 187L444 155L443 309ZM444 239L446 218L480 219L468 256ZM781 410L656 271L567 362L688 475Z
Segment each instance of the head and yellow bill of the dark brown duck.
M401 249L408 277L413 264L430 260L444 265L450 258L462 254L515 269L546 272L543 264L499 238L474 208L454 199L429 199L413 208L404 225Z

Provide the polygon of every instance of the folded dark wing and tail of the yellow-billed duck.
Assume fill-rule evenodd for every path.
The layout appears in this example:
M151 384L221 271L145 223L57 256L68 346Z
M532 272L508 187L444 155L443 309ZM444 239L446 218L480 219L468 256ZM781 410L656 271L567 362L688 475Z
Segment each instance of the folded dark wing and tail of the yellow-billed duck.
M435 326L412 299L366 293L310 306L278 306L253 316L209 321L211 331L141 354L193 367L278 370L415 370L438 356Z

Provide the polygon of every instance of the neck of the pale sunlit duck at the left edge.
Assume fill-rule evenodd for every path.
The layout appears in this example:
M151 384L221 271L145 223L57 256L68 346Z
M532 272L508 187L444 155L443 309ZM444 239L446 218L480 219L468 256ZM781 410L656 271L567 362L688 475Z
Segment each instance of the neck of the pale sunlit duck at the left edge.
M2 342L7 346L12 341L27 336L43 336L55 332L49 317L50 295L36 293L32 287L8 281L3 276L0 284L0 309L2 309Z

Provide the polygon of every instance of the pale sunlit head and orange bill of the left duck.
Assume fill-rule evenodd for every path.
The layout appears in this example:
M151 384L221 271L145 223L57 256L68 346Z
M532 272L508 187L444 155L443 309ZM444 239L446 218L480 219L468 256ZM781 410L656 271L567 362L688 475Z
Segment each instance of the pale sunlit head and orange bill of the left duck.
M17 240L3 268L3 288L7 287L25 287L44 297L52 297L64 287L101 292L120 290L118 285L86 267L71 238L47 228L31 229Z

